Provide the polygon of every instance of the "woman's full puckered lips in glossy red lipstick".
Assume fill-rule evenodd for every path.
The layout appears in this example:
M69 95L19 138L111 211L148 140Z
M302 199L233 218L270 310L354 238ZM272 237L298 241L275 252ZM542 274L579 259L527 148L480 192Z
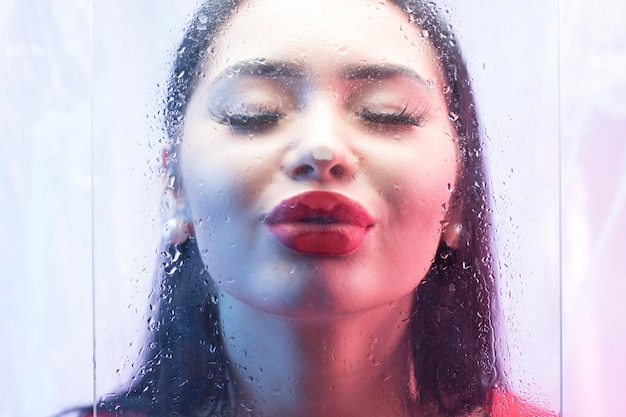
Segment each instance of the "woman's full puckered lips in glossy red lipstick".
M329 191L310 191L280 202L265 219L270 232L291 250L346 255L374 224L358 202Z

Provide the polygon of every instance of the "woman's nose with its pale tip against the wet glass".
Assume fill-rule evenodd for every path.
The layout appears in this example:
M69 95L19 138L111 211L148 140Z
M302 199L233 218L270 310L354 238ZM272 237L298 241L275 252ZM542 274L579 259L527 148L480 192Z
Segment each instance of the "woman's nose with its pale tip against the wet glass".
M332 109L314 109L303 116L301 130L287 152L284 169L291 178L320 182L343 181L354 176L358 158L350 149L345 122Z

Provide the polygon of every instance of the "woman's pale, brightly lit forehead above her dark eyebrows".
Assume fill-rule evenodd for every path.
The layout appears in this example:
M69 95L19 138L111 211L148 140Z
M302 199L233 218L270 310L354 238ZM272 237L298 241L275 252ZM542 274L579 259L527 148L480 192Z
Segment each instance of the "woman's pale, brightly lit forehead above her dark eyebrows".
M254 59L294 62L313 70L392 64L426 80L441 72L434 48L389 1L248 0L216 35L208 78Z

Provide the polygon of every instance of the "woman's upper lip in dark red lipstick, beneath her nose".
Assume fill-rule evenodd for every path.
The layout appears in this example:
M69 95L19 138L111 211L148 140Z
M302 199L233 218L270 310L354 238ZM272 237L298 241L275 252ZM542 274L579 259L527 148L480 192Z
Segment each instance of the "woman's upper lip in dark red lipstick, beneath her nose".
M280 223L343 223L369 227L372 216L358 202L335 192L309 191L281 201L265 219L273 225Z

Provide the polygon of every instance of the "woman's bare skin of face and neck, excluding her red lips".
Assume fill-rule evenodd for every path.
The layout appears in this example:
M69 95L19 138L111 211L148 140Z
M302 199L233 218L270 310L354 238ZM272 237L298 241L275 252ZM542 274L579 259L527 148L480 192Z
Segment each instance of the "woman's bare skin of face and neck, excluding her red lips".
M244 3L185 114L184 198L226 352L263 416L424 414L407 323L459 170L445 79L395 6L304 4ZM272 76L249 74L259 61ZM356 250L303 254L270 233L272 209L311 190L371 215Z

